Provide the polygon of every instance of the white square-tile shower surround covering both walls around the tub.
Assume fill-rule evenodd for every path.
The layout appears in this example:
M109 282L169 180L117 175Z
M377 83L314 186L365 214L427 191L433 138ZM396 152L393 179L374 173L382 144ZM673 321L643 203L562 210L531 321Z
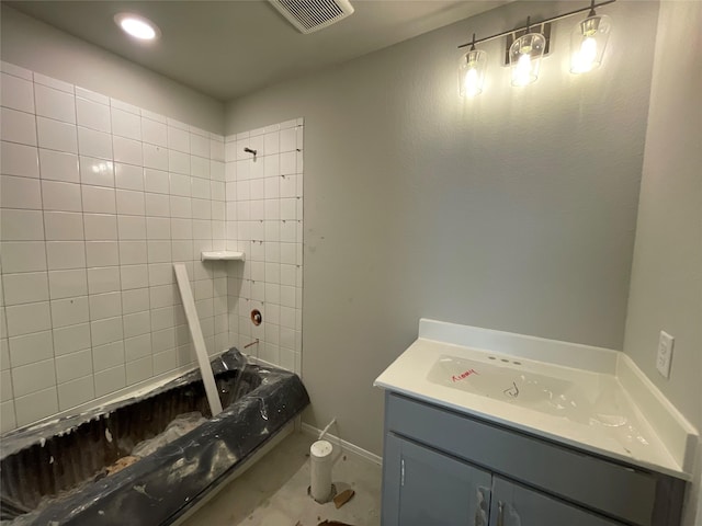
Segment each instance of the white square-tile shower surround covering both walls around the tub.
M2 432L193 367L173 262L211 354L258 338L247 352L299 370L302 122L225 144L5 62L0 83ZM246 262L200 261L225 248Z

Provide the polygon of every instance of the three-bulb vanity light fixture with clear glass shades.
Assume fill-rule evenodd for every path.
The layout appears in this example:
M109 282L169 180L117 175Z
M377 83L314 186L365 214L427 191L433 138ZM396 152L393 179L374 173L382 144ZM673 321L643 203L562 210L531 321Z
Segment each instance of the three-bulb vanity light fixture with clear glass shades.
M458 49L471 46L471 49L461 56L458 62L458 91L461 96L473 96L483 91L487 54L483 50L476 50L475 46L477 44L508 36L507 64L511 68L511 83L512 85L531 84L539 78L541 59L548 53L551 22L585 11L589 11L588 18L578 23L571 35L570 71L573 73L582 73L597 68L602 62L611 23L609 16L598 15L595 9L615 1L603 0L596 3L596 0L590 0L589 7L551 16L536 24L532 24L531 18L528 18L525 26L505 31L485 38L476 39L474 33L471 42L458 46ZM539 27L539 31L532 31L532 27ZM518 35L520 36L518 37Z

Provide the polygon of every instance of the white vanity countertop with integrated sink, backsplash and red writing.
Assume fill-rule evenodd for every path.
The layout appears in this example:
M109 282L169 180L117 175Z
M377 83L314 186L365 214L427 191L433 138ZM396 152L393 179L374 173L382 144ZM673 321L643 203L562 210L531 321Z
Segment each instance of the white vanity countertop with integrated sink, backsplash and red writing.
M421 320L419 339L374 385L691 478L697 431L616 351Z

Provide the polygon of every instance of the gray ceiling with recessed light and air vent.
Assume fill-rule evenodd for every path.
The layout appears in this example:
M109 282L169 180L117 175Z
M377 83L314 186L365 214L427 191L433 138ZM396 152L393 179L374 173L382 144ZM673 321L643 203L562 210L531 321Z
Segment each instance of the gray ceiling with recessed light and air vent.
M220 101L390 46L509 0L351 0L355 12L304 35L268 1L7 1L19 11ZM141 44L113 22L154 21Z

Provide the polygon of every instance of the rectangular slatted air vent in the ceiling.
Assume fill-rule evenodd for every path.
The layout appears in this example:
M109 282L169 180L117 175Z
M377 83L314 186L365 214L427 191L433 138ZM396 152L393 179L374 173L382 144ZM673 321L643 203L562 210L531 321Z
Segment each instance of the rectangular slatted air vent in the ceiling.
M269 0L301 33L314 33L350 14L349 0Z

